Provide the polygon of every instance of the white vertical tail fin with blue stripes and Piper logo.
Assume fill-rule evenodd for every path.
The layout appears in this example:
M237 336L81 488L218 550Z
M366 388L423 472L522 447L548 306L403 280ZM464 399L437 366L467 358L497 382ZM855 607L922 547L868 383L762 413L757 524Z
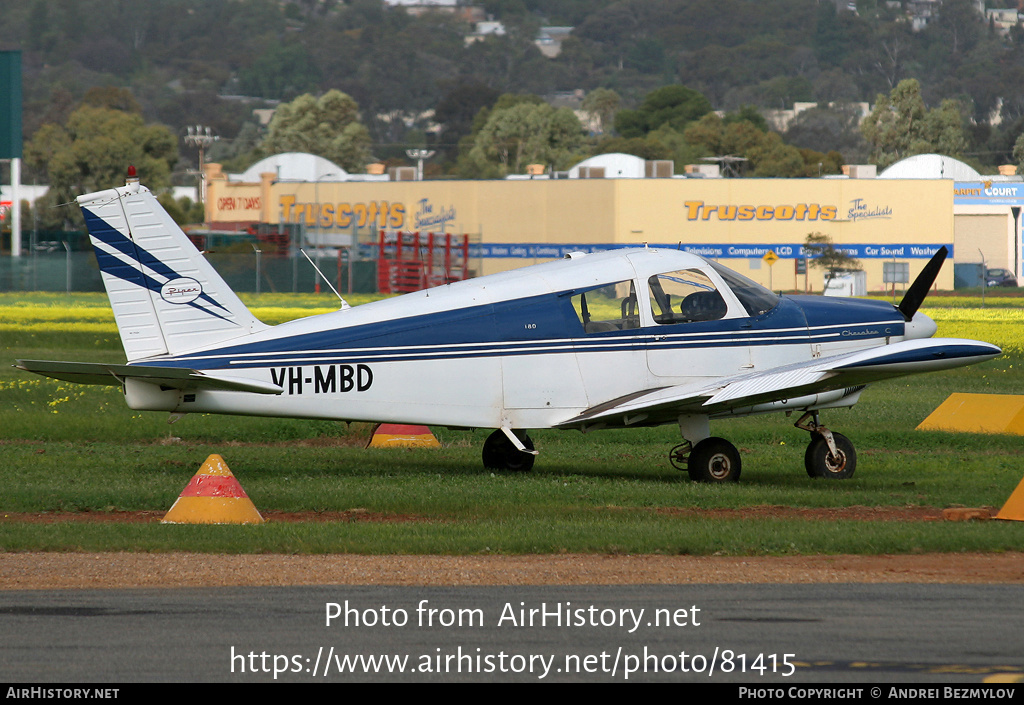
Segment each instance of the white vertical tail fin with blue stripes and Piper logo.
M133 171L124 186L78 198L128 362L267 328Z

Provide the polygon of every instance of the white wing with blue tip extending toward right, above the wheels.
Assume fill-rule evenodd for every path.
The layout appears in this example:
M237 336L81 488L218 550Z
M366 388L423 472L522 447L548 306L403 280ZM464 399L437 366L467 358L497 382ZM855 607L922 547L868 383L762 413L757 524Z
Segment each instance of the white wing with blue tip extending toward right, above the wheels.
M584 411L557 427L664 423L682 414L715 416L758 404L854 388L890 377L932 372L991 360L995 345L961 338L904 340L866 350L713 380L627 395ZM808 401L807 406L813 404Z

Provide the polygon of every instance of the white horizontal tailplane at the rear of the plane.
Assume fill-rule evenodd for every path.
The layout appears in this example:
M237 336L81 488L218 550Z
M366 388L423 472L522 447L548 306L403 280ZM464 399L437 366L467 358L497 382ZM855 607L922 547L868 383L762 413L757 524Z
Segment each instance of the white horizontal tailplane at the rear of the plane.
M145 365L106 365L103 363L66 363L50 360L18 360L14 367L79 384L123 384L127 378L157 384L169 389L226 389L257 395L280 395L276 384L227 375L213 375L179 367Z

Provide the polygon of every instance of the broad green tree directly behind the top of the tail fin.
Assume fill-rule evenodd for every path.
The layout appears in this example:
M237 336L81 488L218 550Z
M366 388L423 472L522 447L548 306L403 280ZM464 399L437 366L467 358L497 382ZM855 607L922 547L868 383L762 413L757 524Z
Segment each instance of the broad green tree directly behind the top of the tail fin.
M141 115L81 106L67 125L40 128L25 157L45 173L52 202L68 203L81 194L123 185L129 166L138 170L143 184L160 191L170 185L178 150L170 129L147 125ZM81 222L77 209L66 217Z

